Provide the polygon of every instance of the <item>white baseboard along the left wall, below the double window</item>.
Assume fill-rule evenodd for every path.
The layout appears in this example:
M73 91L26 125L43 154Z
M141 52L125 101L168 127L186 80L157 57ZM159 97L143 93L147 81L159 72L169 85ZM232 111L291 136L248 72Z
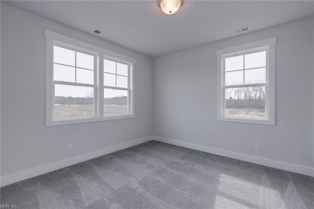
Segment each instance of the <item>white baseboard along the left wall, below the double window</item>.
M67 159L63 159L57 162L52 162L46 165L42 165L42 166L38 166L35 168L31 168L28 170L24 170L24 171L20 171L17 173L13 173L13 174L9 174L6 176L2 176L0 178L0 183L1 186L5 186L11 183L16 183L16 182L20 182L22 180L26 180L35 176L39 176L41 174L45 174L60 168L64 168L70 165L74 165L76 163L79 162L83 162L85 160L89 160L95 157L100 157L109 153L113 153L119 150L123 150L138 144L142 144L144 142L148 142L151 141L153 139L153 136L148 136L145 138L141 138L141 139L136 139L127 143L123 143L123 144L118 144L112 147L108 147L102 150L97 150L94 152L90 152L90 153L86 153L84 155L80 155L80 156L76 156L76 157L71 157L71 158L67 158Z

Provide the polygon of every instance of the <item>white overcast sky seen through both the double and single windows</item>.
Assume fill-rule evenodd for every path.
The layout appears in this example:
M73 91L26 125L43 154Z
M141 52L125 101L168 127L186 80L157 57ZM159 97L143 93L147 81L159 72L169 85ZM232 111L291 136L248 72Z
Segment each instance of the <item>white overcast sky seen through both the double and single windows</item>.
M54 46L53 79L68 82L94 83L94 57L88 54ZM58 64L57 64L58 63ZM70 66L69 66L70 65ZM71 67L73 66L73 67ZM266 52L256 52L225 59L225 85L258 83L266 80ZM128 87L127 65L104 60L104 83L110 86ZM255 68L255 69L252 69ZM251 70L244 70L251 69ZM111 74L108 74L111 73ZM113 73L113 74L112 74ZM117 83L116 83L117 82ZM93 87L55 85L55 96L88 97ZM105 97L127 96L128 91L105 89Z

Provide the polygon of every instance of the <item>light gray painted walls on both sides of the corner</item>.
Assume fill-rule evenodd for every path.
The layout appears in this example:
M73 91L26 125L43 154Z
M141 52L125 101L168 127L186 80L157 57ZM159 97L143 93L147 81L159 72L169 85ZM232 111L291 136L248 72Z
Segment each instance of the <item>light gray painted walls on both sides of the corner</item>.
M45 29L136 58L136 117L45 127ZM313 19L302 20L159 57L153 66L137 52L1 3L1 176L152 133L314 167L313 29ZM272 36L276 126L217 121L216 50Z

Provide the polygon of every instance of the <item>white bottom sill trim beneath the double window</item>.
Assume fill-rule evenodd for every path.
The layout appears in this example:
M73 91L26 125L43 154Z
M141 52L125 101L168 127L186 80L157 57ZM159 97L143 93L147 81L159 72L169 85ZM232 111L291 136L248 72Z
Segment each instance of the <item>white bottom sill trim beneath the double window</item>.
M110 115L110 116L105 116L105 117L57 119L57 120L52 120L52 121L46 121L46 127L78 124L78 123L100 122L100 121L109 121L109 120L119 120L119 119L128 119L128 118L135 118L135 115L128 114L128 115Z

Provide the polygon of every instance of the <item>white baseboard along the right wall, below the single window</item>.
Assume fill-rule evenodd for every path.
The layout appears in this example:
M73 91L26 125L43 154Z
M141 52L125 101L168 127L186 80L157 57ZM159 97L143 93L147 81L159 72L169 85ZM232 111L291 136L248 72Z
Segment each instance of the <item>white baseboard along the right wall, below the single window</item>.
M262 157L250 156L250 155L245 155L241 153L235 153L235 152L231 152L227 150L221 150L221 149L217 149L213 147L193 144L189 142L183 142L183 141L169 139L169 138L163 138L159 136L153 136L153 138L156 141L160 141L160 142L164 142L168 144L178 145L178 146L190 148L193 150L203 151L206 153L211 153L211 154L224 156L224 157L231 157L234 159L239 159L239 160L243 160L247 162L252 162L252 163L265 165L272 168L278 168L278 169L314 177L314 168L311 168L311 167L291 164L287 162L282 162L282 161L277 161L277 160L272 160L272 159L267 159L267 158L262 158Z

